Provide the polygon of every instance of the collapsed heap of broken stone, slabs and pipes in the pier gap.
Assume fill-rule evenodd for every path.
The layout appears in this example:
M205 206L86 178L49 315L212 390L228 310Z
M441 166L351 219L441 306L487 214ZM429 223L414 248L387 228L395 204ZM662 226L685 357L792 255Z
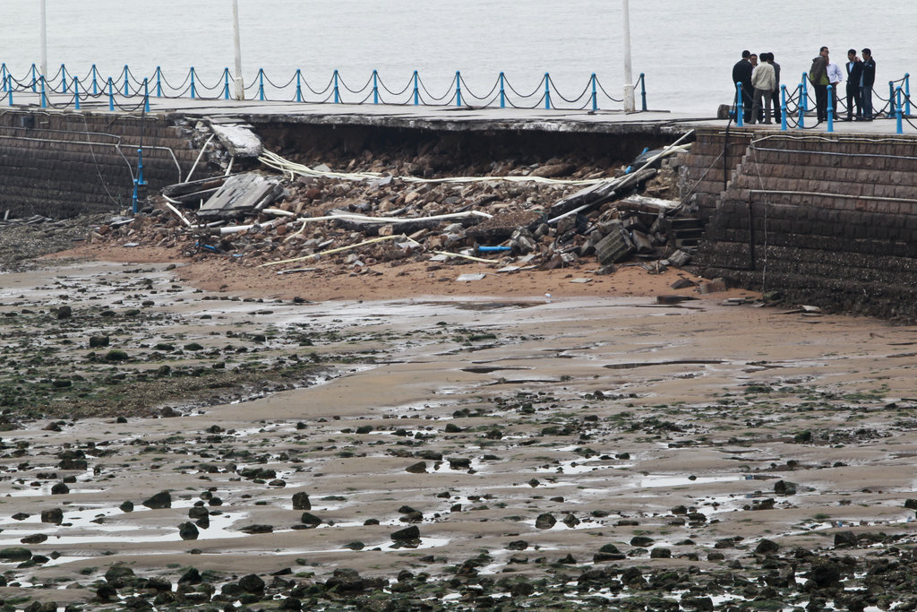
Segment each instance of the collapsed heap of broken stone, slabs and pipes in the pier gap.
M508 271L598 261L600 273L622 261L652 261L659 270L689 261L700 235L696 226L686 230L679 202L663 199L675 194L681 150L643 167L494 162L487 176L428 181L394 176L368 156L334 172L268 154L260 161L282 174L260 166L171 185L133 222L102 226L91 239L278 272L321 262L339 273L372 273L373 266L431 260L486 261Z

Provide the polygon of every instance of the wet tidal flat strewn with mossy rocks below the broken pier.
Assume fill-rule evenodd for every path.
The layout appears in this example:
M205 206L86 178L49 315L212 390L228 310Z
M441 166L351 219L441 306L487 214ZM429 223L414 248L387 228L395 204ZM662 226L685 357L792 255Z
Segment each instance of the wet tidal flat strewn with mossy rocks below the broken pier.
M171 274L5 275L8 606L917 602L917 328L715 296L247 301Z

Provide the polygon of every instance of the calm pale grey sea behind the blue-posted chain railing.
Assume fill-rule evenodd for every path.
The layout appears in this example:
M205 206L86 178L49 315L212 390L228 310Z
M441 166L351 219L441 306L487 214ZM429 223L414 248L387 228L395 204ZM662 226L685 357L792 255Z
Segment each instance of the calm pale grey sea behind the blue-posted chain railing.
M501 71L521 93L550 72L561 94L580 95L595 72L621 97L622 3L618 0L238 0L243 75L259 68L285 83L299 68L321 89L337 68L354 88L379 71L401 90L414 70L434 95L460 70L475 95ZM141 78L157 65L181 82L194 66L215 85L233 65L229 0L47 0L49 72L83 75L96 64ZM729 102L743 49L773 51L783 83L799 83L821 45L834 61L870 47L877 90L917 71L917 3L726 3L631 0L635 78L646 73L649 107L713 115ZM0 61L17 76L40 61L39 1L0 0ZM917 73L917 72L915 72ZM878 103L878 101L877 101Z

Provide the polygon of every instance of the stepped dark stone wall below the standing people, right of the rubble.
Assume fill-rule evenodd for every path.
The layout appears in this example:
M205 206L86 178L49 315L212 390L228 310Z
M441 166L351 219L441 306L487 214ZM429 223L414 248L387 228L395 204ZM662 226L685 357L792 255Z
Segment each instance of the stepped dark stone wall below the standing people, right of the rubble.
M750 142L696 261L795 303L917 318L917 139Z

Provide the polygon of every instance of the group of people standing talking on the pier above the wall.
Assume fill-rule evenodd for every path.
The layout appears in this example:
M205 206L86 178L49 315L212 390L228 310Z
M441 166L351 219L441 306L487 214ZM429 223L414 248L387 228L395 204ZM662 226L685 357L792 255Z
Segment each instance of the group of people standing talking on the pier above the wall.
M846 121L872 121L872 88L876 83L876 61L872 51L862 50L862 59L856 50L847 51L846 63ZM828 118L828 86L831 85L834 95L831 99L832 112L837 117L837 86L844 81L844 72L840 66L831 61L827 47L822 47L818 56L812 60L809 70L809 81L815 90L815 112L819 121ZM751 51L742 51L742 59L733 66L733 83L736 95L742 92L742 111L746 123L771 123L771 106L773 117L780 120L780 65L774 61L774 54L761 53L758 56ZM856 109L856 117L854 111Z

